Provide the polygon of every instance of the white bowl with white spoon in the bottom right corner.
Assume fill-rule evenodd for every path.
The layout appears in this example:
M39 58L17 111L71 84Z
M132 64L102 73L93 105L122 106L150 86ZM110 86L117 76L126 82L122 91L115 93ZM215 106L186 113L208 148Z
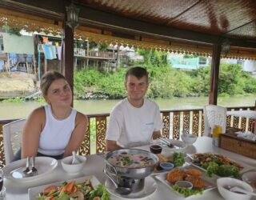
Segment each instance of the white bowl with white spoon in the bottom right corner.
M241 194L228 190L231 187L238 186L244 190L253 192L253 188L246 182L238 180L236 178L218 178L217 179L218 192L226 200L250 200L250 194Z

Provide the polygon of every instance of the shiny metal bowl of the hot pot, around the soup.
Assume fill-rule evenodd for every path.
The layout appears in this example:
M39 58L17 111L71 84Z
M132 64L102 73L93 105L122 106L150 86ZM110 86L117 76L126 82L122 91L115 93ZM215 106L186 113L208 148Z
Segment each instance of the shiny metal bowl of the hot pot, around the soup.
M152 158L154 161L154 164L150 166L129 168L126 166L116 166L108 162L108 158L112 156L118 156L118 154L143 154L148 158ZM110 174L114 174L117 177L141 179L141 178L146 178L148 175L150 175L153 172L154 166L158 162L158 156L146 150L122 149L122 150L110 151L109 153L105 154L105 161L106 161L106 170L108 170Z

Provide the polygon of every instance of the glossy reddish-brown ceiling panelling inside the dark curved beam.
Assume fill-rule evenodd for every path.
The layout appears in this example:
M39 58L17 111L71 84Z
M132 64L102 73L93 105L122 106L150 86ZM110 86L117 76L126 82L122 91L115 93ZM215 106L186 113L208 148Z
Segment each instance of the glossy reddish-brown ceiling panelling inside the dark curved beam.
M80 0L117 16L255 42L255 0Z

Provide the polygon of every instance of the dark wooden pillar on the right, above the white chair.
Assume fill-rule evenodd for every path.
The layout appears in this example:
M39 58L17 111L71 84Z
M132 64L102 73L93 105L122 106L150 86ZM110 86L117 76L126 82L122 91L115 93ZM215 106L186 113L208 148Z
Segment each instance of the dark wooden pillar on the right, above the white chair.
M210 95L209 95L209 104L213 104L213 105L217 105L218 74L219 74L220 58L221 58L221 45L214 44L213 57L211 62L211 72L210 72Z

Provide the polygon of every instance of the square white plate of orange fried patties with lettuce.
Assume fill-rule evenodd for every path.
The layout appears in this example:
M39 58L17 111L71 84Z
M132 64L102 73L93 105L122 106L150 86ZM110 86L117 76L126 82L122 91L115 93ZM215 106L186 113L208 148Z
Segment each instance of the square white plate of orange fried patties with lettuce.
M166 174L158 174L155 178L185 198L216 188L216 182L212 178L207 177L203 170L190 164L174 168ZM178 182L189 182L191 187L181 188Z

